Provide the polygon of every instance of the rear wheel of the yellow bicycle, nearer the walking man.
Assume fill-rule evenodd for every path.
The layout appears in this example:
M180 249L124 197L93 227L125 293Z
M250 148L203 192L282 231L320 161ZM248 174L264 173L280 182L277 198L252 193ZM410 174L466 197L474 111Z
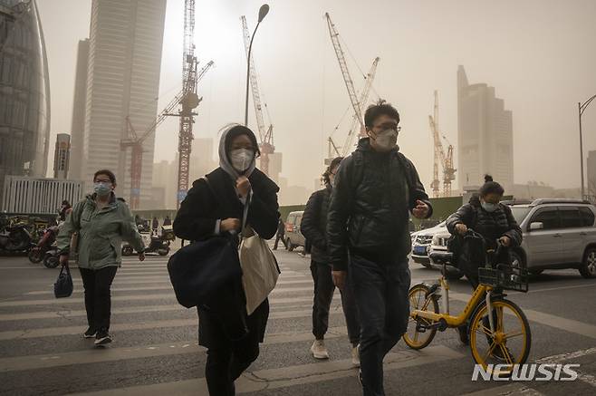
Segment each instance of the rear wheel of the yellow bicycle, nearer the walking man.
M409 289L409 312L414 310L430 311L438 314L438 301L436 295L428 295L427 285L413 285ZM418 317L408 321L408 330L403 335L404 342L412 349L426 348L435 338L437 327L429 319Z

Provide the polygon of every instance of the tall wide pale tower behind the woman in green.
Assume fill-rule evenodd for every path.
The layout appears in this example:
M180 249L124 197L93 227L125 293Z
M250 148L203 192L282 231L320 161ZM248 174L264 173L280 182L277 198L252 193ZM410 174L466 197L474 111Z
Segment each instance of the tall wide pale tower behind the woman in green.
M82 179L111 169L117 194L130 198L129 125L142 136L157 116L166 0L93 0ZM154 133L143 143L140 207L151 195Z

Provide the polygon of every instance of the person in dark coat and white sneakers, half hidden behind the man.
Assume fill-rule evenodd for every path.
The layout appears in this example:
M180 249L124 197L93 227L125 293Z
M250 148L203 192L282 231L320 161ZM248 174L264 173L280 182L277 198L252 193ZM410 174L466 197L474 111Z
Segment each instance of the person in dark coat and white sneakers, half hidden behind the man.
M304 208L301 225L304 237L312 241L311 274L314 282L314 298L312 304L312 334L314 342L311 346L312 356L316 359L328 359L325 346L325 333L329 327L329 310L332 305L335 285L332 279L332 266L327 254L327 213L332 195L333 180L340 168L341 157L332 160L329 168L323 173L325 188L312 193ZM360 324L356 311L353 291L345 285L341 293L341 308L348 326L348 338L351 343L351 362L360 366L358 344L360 343Z

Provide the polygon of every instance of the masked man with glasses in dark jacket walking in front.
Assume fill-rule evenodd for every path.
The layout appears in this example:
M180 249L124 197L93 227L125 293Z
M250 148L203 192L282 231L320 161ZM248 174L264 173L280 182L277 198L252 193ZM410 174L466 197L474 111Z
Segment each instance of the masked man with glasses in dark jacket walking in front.
M368 137L341 161L335 179L327 240L333 282L340 288L350 282L356 298L364 395L381 396L383 358L408 327L409 211L428 218L432 208L396 144L398 111L380 101L367 109L364 123Z

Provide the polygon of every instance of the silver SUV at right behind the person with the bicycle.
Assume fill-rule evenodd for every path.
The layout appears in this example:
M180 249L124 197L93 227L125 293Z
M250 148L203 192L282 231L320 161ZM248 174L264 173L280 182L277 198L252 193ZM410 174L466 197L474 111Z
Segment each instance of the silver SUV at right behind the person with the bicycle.
M596 207L589 201L542 198L509 206L524 233L522 245L512 250L514 266L534 275L576 268L583 277L596 277ZM447 250L448 237L448 232L437 233L429 251Z

